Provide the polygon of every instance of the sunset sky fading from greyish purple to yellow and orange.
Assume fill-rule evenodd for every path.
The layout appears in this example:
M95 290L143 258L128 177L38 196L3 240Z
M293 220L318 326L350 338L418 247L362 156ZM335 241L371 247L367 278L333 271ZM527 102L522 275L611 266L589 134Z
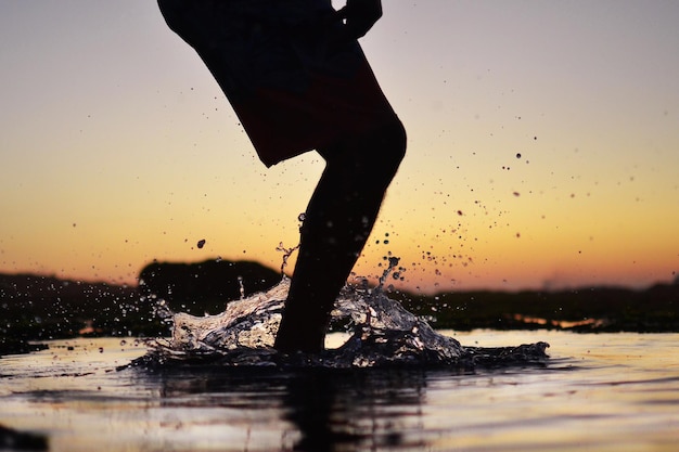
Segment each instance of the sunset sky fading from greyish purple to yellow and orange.
M383 4L362 43L409 151L358 274L390 253L425 292L677 276L679 2ZM0 0L0 272L134 283L296 245L321 160L261 165L155 1Z

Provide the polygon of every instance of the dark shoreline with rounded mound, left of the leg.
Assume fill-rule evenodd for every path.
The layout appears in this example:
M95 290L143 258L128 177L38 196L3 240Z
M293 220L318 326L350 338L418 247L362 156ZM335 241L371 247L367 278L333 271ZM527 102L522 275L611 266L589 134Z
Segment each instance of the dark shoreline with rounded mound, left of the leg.
M241 287L249 295L281 277L257 262L227 260L152 262L141 271L139 286L0 274L0 356L27 351L28 340L167 335L169 325L155 312L156 298L175 311L218 313L241 297Z

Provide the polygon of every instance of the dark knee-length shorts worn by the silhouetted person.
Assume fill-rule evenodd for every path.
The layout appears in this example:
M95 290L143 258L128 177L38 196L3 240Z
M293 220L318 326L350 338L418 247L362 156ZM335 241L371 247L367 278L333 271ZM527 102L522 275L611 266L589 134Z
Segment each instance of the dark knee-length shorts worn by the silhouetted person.
M271 166L396 115L330 0L158 0Z

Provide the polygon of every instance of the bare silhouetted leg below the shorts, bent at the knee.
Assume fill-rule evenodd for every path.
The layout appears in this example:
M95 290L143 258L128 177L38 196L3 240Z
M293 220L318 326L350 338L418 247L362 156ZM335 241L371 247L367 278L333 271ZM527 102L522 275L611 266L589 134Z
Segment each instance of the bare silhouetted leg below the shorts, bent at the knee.
M374 225L406 152L398 119L367 137L319 150L325 170L307 207L297 263L274 347L317 352L335 298Z

